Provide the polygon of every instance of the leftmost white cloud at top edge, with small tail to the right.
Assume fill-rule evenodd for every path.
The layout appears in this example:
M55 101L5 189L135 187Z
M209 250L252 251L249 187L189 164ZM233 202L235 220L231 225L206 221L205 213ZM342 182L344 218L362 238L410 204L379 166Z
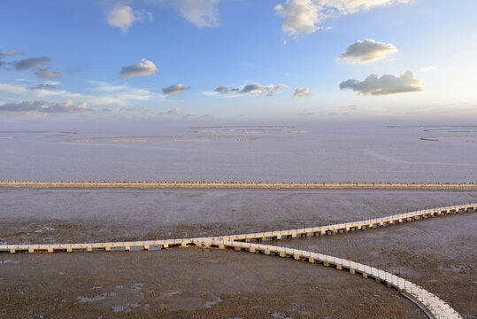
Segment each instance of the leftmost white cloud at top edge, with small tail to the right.
M119 27L122 32L127 32L133 22L143 20L146 17L151 21L152 13L133 10L128 4L130 0L106 1L106 20L112 27Z

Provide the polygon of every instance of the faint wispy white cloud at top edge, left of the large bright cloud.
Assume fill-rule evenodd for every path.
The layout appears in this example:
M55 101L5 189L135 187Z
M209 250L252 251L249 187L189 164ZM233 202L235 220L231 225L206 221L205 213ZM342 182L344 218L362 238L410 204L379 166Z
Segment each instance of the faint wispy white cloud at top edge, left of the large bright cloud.
M179 9L182 18L196 27L219 26L219 0L173 0L171 4Z

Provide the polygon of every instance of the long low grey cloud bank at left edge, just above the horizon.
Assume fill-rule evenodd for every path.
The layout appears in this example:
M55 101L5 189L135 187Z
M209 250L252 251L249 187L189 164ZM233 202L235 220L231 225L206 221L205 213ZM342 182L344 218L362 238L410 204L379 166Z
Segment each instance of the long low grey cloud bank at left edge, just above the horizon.
M19 113L78 113L90 111L86 103L75 105L71 100L65 103L50 103L47 101L23 101L0 105L0 112Z

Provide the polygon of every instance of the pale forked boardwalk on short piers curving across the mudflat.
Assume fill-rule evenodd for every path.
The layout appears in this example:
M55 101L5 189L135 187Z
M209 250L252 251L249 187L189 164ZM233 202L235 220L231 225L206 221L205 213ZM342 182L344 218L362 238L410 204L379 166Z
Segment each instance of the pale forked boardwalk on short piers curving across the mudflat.
M196 237L196 238L178 238L165 240L151 240L140 242L110 242L110 243L82 243L82 244L52 244L52 245L0 245L0 252L93 252L93 251L112 251L134 249L149 250L153 248L170 248L174 246L201 246L217 248L233 248L237 251L245 250L250 253L277 254L281 257L292 256L298 261L319 262L324 266L334 266L337 269L346 268L351 274L360 273L365 277L372 277L377 281L388 284L389 287L396 288L403 292L404 296L411 299L419 307L423 308L426 314L431 318L460 318L460 315L445 302L437 298L434 294L427 292L417 284L395 276L384 270L373 268L355 261L348 261L335 256L324 255L321 253L312 253L293 248L279 247L273 245L262 245L251 243L250 241L266 241L269 239L281 239L285 237L303 237L303 236L321 236L329 233L338 233L353 230L367 230L374 227L386 227L403 222L412 222L420 219L427 219L445 214L459 214L477 212L477 204L466 204L458 206L445 206L426 210L419 210L406 214L395 214L382 218L370 220L346 222L314 228L305 228L297 230L276 230L261 233L250 233L241 235L230 235L221 237Z

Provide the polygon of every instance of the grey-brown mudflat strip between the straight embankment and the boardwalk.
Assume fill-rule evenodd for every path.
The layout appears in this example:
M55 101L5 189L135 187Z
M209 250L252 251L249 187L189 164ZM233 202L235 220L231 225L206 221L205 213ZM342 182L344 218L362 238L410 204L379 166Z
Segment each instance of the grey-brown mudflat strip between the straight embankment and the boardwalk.
M0 189L0 242L223 236L475 201L477 191Z

